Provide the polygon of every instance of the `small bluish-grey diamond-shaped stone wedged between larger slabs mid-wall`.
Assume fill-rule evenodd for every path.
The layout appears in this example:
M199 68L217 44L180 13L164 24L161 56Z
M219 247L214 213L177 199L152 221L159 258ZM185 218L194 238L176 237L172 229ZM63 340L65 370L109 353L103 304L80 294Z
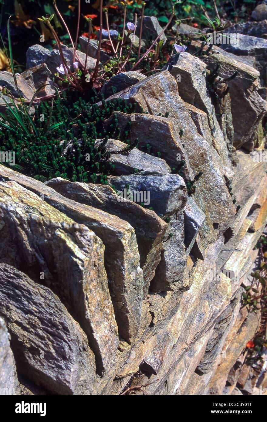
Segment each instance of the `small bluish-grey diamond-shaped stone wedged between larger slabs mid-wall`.
M184 244L186 246L186 254L191 251L203 222L206 219L204 212L197 206L192 197L187 198L186 206L183 210L184 215Z

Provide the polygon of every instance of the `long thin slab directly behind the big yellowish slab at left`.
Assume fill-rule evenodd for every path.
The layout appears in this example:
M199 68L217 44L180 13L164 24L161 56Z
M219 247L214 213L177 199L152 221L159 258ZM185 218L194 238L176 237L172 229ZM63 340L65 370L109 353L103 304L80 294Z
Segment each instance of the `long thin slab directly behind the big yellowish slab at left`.
M96 263L92 266L96 273L105 274L103 266L105 264L111 300L116 322L119 326L119 334L125 340L133 341L137 335L140 321L141 301L143 298L143 271L139 266L138 245L132 226L104 211L68 200L45 184L13 172L3 166L0 166L0 177L3 180L11 179L17 181L22 186L35 192L39 197L43 197L44 207L46 206L45 202L47 202L61 211L61 213L66 214L72 221L77 222L78 225L87 226L89 238L90 235L92 235L93 239L96 238L94 236L95 233L102 239L105 245L105 260L103 262L101 255L99 260L96 260ZM103 249L100 249L100 251L102 253ZM98 280L101 281L100 276L98 277ZM109 305L107 322L111 325L111 332L113 333L113 338L115 338L116 328L113 325L113 312L110 308L111 303L105 282L103 290L103 294L105 294L104 301L107 301ZM100 295L100 297L102 296ZM93 309L95 313L95 308L93 307ZM101 315L102 311L97 318L102 318ZM105 331L105 324L102 324L102 328L96 330L96 332L101 333L102 330ZM114 348L116 348L116 344L117 340L114 340ZM105 357L110 362L110 353L105 354Z

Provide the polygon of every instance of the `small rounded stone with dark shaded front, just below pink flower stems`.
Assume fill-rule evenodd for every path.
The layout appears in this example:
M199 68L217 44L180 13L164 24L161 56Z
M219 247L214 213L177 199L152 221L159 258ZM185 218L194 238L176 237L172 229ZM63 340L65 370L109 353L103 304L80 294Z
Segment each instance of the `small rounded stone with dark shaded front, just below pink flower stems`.
M120 92L145 78L145 75L135 71L119 73L118 75L112 76L110 80L103 85L100 95L103 94L105 98L108 98L114 94L113 87L116 89L115 92Z

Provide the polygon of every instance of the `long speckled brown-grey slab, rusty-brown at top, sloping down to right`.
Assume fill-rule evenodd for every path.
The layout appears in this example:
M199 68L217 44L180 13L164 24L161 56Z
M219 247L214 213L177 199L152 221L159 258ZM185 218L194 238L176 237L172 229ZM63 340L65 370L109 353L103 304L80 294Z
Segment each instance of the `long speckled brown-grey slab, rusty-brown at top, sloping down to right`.
M182 140L193 175L202 172L198 183L202 187L203 200L211 220L218 223L235 215L218 161L213 158L208 142L197 132L178 95L177 82L168 70L146 78L109 99L116 97L136 102L150 114L165 114L168 111L168 119L173 123L176 133L181 133L181 129L183 131Z

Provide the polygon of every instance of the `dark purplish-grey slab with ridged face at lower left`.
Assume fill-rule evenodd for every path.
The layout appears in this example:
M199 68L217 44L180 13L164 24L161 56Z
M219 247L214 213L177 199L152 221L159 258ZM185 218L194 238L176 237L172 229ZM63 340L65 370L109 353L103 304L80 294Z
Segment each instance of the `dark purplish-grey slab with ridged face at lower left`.
M52 394L96 392L86 335L48 287L1 263L0 303L16 365L27 379Z

